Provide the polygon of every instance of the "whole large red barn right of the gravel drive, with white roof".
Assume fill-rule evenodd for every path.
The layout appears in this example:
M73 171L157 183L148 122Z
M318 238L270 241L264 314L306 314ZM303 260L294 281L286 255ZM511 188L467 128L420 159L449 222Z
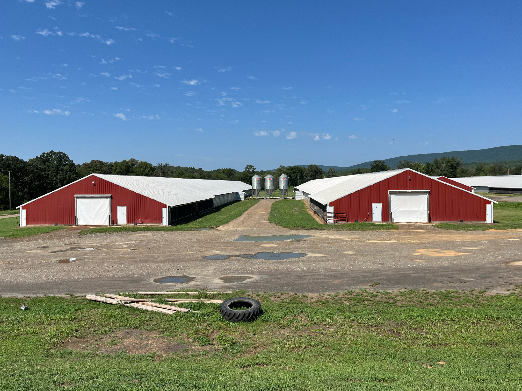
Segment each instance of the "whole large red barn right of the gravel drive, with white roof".
M497 203L410 168L315 179L295 190L327 223L493 223Z

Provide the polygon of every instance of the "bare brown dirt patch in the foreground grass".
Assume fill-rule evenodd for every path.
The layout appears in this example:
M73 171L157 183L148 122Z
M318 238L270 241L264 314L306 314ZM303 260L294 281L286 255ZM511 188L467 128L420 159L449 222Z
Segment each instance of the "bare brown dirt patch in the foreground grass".
M102 336L87 338L71 337L64 341L60 349L93 351L113 355L125 350L129 355L140 355L156 352L159 355L181 352L191 349L192 344L182 344L179 340L159 334L159 331L123 330Z

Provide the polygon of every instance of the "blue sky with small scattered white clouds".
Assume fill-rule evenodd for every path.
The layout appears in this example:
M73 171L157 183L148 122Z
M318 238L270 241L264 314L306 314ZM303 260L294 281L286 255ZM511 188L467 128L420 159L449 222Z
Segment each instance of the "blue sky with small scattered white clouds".
M1 9L0 153L269 169L522 143L520 2Z

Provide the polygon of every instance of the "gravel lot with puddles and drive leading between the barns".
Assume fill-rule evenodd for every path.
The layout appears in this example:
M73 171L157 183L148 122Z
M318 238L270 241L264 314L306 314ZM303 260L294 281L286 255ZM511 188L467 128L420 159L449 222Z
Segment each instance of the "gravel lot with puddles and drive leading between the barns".
M419 224L403 224L396 231L289 230L266 221L270 202L259 202L250 215L217 230L80 236L72 227L0 239L0 294L404 287L507 292L512 284L522 284L521 231L448 231ZM236 241L243 235L308 237ZM297 255L251 259L270 258L266 252L276 258ZM209 255L221 259L204 258ZM185 284L153 282L170 276L195 278Z

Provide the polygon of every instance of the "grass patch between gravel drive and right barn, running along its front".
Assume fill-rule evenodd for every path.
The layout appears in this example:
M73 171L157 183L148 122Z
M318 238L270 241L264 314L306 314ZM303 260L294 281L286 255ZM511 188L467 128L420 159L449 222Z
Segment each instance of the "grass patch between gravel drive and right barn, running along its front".
M341 229L350 231L399 229L395 224L352 223L319 224L308 212L302 200L281 200L272 204L268 221L284 228L295 229Z

